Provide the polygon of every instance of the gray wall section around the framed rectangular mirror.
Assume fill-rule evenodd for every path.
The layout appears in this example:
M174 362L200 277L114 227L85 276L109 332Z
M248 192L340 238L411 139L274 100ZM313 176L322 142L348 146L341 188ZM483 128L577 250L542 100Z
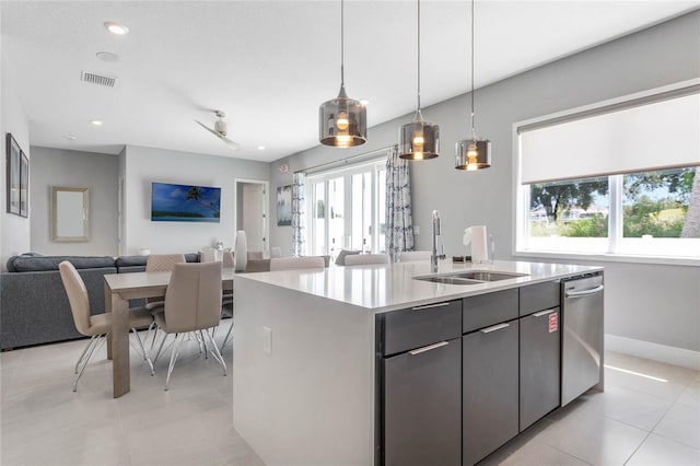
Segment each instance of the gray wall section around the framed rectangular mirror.
M32 147L32 251L46 255L116 255L116 155ZM86 187L90 241L51 241L51 187Z

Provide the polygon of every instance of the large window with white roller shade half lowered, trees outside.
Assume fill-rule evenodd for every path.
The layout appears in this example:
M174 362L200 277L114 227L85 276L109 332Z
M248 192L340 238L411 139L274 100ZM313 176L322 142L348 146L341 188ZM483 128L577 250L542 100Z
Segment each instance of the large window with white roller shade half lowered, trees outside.
M521 125L516 252L700 259L700 94L685 90Z

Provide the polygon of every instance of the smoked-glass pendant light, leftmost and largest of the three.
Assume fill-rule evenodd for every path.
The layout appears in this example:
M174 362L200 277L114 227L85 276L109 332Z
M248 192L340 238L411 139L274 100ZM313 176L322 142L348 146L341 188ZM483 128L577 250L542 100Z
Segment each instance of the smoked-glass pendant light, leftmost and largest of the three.
M343 0L340 0L340 93L318 107L318 139L322 144L335 148L352 148L368 141L366 107L346 93Z

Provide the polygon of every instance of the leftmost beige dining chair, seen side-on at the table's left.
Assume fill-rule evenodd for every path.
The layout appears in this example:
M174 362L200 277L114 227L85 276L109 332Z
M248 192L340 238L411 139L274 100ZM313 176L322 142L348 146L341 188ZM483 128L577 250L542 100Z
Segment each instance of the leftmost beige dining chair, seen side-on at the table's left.
M60 271L61 281L63 282L63 288L66 289L66 294L68 294L68 301L70 302L70 311L73 314L75 329L80 334L90 337L88 346L75 363L73 392L77 392L78 381L80 381L80 377L83 375L83 371L88 366L90 359L100 348L102 348L107 339L106 337L112 331L112 313L90 315L90 296L88 294L88 288L85 287L83 279L80 277L80 273L78 273L78 270L75 270L75 267L70 261L63 260L58 265L58 269ZM153 371L153 362L143 348L143 342L141 341L139 334L136 331L138 327L150 326L153 322L153 316L142 307L130 308L128 316L128 326L131 328L131 331L133 331L133 335L136 335L136 339L139 343L139 350L141 351L143 359L149 363L151 375L153 375L155 373Z

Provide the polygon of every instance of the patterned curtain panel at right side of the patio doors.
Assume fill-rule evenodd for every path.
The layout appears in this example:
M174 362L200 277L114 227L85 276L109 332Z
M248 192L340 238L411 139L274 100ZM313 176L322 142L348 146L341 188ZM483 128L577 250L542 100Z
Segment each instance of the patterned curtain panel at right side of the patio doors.
M399 253L413 248L411 218L411 178L409 162L398 156L394 147L386 159L386 252L392 261Z

